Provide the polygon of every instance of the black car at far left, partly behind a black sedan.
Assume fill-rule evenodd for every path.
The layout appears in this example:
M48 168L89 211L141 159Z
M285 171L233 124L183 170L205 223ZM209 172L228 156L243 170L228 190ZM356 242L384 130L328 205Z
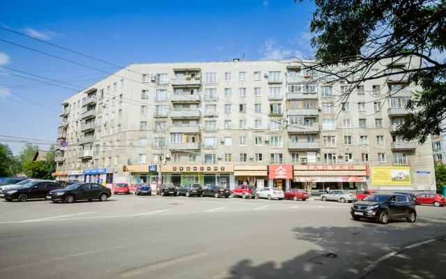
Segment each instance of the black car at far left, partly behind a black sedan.
M31 180L15 188L3 190L4 199L8 202L17 199L19 202L26 202L28 199L45 199L51 190L61 189L63 186L54 181Z

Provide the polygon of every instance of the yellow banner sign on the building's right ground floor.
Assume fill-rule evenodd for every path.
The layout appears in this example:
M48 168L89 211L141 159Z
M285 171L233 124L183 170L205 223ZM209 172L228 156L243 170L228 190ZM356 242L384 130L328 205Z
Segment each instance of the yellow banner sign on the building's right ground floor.
M409 167L371 167L371 183L375 185L410 185Z

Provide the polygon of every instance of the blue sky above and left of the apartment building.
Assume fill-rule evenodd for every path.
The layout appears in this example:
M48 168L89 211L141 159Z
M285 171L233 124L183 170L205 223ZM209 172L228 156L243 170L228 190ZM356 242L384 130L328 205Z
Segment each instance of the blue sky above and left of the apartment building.
M0 0L0 26L120 66L227 61L243 54L249 60L282 59L311 55L309 21L313 10L313 3L295 4L293 0ZM0 39L108 72L117 70L1 29ZM2 41L0 66L82 87L106 76ZM4 68L0 71L10 72ZM61 101L73 93L75 90L0 73L0 135L55 142ZM15 153L22 146L18 142L8 144Z

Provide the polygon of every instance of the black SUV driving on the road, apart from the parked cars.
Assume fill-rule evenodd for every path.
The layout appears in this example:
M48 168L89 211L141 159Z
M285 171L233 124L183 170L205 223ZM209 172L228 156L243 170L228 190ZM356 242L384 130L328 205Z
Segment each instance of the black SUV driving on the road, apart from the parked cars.
M389 223L392 218L406 218L409 223L417 219L415 205L407 195L372 194L354 202L350 210L354 220L373 219L381 224Z

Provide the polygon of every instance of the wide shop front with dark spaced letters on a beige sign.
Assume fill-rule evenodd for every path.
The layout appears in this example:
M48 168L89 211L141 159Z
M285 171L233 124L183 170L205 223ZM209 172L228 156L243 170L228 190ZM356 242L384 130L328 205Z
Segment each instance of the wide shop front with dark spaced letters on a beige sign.
M201 186L231 187L232 165L165 165L162 167L162 183L176 186L199 183Z

